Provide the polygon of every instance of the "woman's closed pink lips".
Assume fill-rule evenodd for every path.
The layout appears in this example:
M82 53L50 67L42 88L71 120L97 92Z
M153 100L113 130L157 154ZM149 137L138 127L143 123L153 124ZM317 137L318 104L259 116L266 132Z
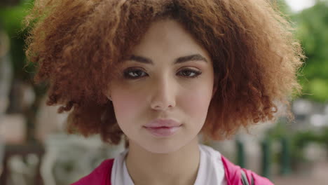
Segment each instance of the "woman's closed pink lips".
M181 125L173 120L157 119L144 125L144 128L155 137L168 137L175 134L181 128Z

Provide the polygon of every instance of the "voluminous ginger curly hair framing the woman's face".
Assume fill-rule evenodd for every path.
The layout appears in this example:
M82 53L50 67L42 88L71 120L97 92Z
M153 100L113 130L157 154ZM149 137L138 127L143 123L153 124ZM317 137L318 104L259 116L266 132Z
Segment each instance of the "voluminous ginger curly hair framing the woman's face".
M36 0L25 18L26 55L48 105L70 111L69 132L100 134L118 144L123 132L102 93L120 61L156 20L181 23L213 61L217 92L202 132L229 137L240 127L277 117L299 93L304 58L290 23L268 0Z

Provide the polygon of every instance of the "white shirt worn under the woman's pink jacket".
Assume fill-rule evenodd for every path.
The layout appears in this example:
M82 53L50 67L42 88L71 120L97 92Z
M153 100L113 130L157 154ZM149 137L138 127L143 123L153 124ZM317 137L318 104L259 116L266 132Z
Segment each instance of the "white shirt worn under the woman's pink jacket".
M199 149L200 164L194 185L226 185L221 153L203 144L199 145ZM111 170L111 184L113 185L134 185L125 164L126 153L128 153L128 149L114 158Z

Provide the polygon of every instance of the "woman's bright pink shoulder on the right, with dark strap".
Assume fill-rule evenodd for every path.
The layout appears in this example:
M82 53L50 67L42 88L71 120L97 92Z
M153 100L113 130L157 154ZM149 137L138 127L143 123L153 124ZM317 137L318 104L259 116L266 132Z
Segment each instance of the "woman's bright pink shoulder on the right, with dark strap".
M254 185L273 185L273 183L267 179L266 177L261 177L259 174L252 172L251 170L247 170L245 168L241 168L238 165L235 165L230 162L224 156L221 156L222 163L224 164L224 171L226 174L227 184L241 184L241 170L245 172L247 179L254 179Z

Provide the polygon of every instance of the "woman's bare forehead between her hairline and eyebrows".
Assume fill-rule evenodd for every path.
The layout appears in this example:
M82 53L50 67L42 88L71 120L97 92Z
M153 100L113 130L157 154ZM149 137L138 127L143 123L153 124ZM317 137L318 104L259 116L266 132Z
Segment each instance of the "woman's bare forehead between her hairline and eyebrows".
M163 60L178 58L186 55L200 54L207 61L210 57L196 39L175 20L158 20L152 22L142 36L141 41L132 49L133 55L142 55Z

